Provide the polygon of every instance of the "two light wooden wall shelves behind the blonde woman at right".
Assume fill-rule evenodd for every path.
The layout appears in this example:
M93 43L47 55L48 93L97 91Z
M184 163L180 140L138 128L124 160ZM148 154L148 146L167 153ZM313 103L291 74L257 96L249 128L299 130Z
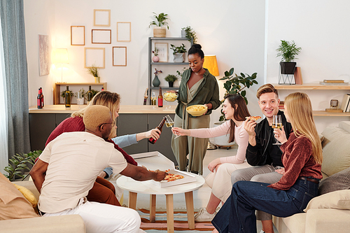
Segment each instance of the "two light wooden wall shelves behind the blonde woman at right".
M321 84L302 84L302 85L279 85L272 84L277 90L350 90L350 85L321 85ZM350 113L329 113L326 111L312 111L314 116L349 116Z

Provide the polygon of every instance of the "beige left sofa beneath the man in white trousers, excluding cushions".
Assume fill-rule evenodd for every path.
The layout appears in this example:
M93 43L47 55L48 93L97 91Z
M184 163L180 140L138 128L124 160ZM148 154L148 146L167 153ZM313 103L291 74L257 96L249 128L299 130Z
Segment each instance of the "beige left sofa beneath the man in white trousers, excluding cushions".
M29 189L36 196L39 197L39 192L33 181L13 182ZM78 215L71 216L52 216L52 217L38 217L38 218L23 218L13 220L0 220L1 233L85 233L85 225L83 218Z

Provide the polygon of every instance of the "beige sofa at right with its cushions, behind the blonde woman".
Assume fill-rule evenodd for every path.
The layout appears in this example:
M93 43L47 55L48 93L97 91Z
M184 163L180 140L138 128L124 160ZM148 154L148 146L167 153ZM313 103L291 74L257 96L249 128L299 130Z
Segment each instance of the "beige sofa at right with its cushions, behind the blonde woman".
M322 135L323 180L319 191L326 192L326 185L340 191L311 199L304 210L306 213L288 218L274 216L274 225L279 233L350 232L350 121L340 122L338 127L326 127ZM342 179L338 182L341 187L334 187L339 178Z

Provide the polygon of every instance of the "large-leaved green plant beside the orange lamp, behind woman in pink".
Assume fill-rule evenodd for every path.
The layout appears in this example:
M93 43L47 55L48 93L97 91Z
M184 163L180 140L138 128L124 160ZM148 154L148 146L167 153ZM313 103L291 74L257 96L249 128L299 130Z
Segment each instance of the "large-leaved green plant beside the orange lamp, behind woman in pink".
M248 99L246 99L246 90L244 88L249 88L254 84L258 84L255 80L257 73L253 73L251 76L248 73L240 73L240 76L237 76L234 73L235 69L231 68L230 71L225 71L225 76L220 78L220 80L226 80L223 84L226 92L225 94L240 94L243 97L246 104L248 104ZM221 101L223 102L223 101ZM223 114L223 110L221 110L220 121L225 120L225 115Z

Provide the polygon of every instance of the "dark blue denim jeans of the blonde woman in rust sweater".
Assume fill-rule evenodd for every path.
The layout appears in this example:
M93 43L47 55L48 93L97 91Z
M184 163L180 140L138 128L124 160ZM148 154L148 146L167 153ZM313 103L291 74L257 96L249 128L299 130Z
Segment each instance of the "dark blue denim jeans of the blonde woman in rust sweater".
M318 184L297 180L289 190L268 188L268 183L237 181L231 196L211 221L218 232L256 232L255 210L277 217L302 213L316 197Z

